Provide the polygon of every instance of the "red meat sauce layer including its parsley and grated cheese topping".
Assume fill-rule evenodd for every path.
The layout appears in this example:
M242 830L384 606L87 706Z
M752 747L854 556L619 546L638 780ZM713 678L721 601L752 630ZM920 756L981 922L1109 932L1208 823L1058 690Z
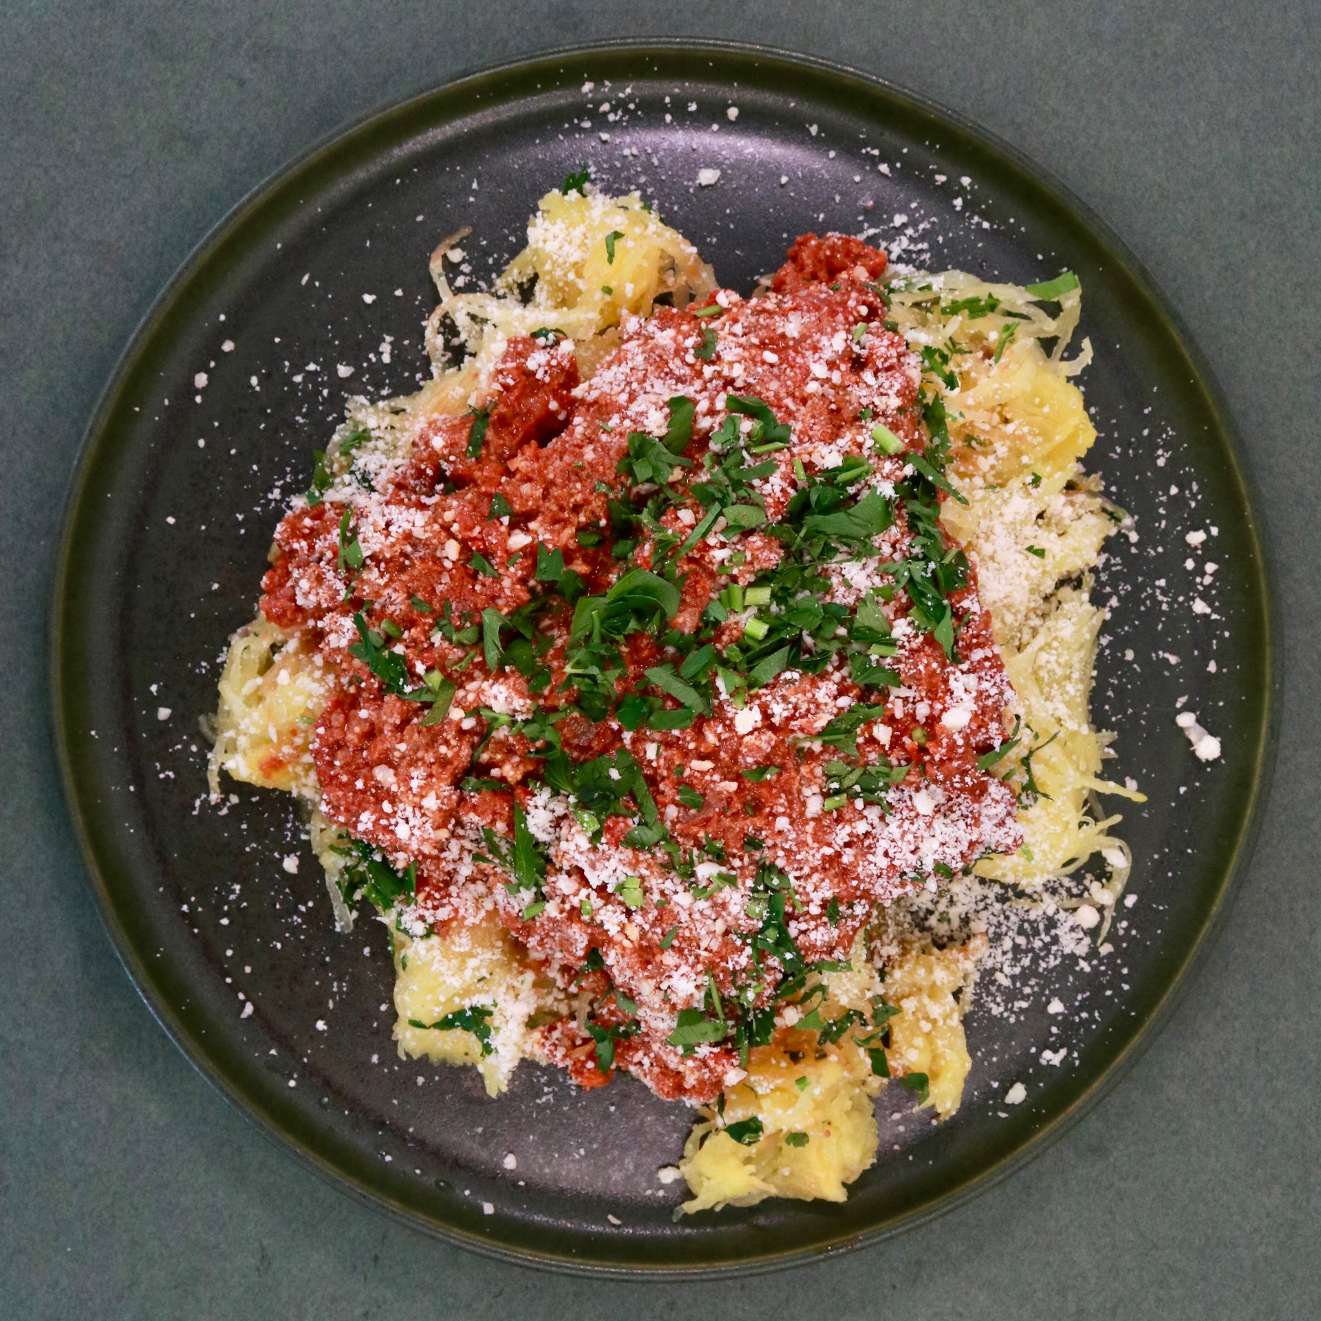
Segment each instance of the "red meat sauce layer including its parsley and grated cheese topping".
M495 911L589 993L538 1029L584 1085L712 1100L878 905L1020 843L884 269L803 235L764 296L625 318L587 380L510 339L375 490L277 528L262 610L337 678L322 810L412 868L419 931Z

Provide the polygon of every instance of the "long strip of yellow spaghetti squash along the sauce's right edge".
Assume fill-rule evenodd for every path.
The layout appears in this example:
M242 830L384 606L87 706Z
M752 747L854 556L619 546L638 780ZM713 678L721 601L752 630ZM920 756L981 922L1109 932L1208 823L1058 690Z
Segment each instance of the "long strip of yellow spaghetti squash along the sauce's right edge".
M942 522L976 564L1017 695L1018 744L999 773L1020 787L1024 844L1011 857L983 859L978 872L1032 889L1099 852L1111 869L1102 902L1112 908L1129 859L1108 834L1120 818L1098 810L1096 794L1144 799L1100 778L1111 736L1090 717L1106 618L1090 598L1091 569L1125 515L1081 466L1096 432L1069 378L1091 359L1091 345L1063 355L1082 291L1074 281L1059 292L1050 316L1028 289L947 271L910 277L892 299L914 350L948 354L945 373L923 375L945 404L950 473L966 501L946 501Z

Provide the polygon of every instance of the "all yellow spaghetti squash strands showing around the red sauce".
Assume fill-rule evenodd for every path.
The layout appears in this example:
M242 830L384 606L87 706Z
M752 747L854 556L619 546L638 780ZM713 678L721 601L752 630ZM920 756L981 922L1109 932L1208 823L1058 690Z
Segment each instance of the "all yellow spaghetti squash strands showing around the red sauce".
M612 232L614 260L606 272ZM462 236L448 239L432 258L440 291L427 328L432 379L410 396L351 402L324 456L334 483L329 494L354 480L351 468L370 477L374 468L396 462L427 419L476 406L511 337L543 326L561 330L588 376L618 342L622 316L646 316L660 297L684 306L716 287L694 246L637 193L610 198L588 186L547 194L528 225L527 246L489 293L456 293L449 285L446 255ZM892 281L888 297L892 325L914 351L930 350L923 388L945 403L954 440L948 472L967 499L966 506L946 502L943 520L976 563L1017 694L1017 742L1001 771L1020 789L1024 845L976 869L1030 894L1100 852L1110 871L1094 885L1092 900L1108 910L1127 877L1128 851L1110 834L1118 818L1100 812L1096 794L1140 795L1100 778L1108 736L1092 728L1089 705L1104 612L1092 605L1089 588L1102 544L1124 515L1081 469L1095 431L1070 378L1091 350L1085 343L1078 357L1065 359L1081 291L1074 281L1053 292L1053 316L1040 291L960 272ZM210 729L210 786L218 798L223 771L297 797L337 925L349 930L354 914L341 885L347 836L318 808L310 757L332 682L305 638L260 617L239 630ZM415 938L390 926L400 1055L472 1063L491 1095L507 1087L530 1054L532 1025L588 1011L585 1001L575 1004L539 979L494 918L444 937ZM888 1005L890 1069L910 1083L921 1079L922 1104L945 1119L959 1107L971 1065L963 1015L984 945L984 937L972 937L939 947L896 905L860 938L847 970L820 976L826 989L816 1012L830 1020ZM462 1015L478 1001L494 1004L481 1040L461 1028L415 1026ZM873 1099L886 1077L877 1075L872 1055L849 1033L824 1046L818 1030L797 1036L790 1028L786 1041L753 1049L746 1079L727 1092L723 1108L700 1112L680 1161L692 1194L682 1210L766 1197L843 1201L848 1184L875 1161ZM749 1119L761 1123L754 1145L727 1132Z

